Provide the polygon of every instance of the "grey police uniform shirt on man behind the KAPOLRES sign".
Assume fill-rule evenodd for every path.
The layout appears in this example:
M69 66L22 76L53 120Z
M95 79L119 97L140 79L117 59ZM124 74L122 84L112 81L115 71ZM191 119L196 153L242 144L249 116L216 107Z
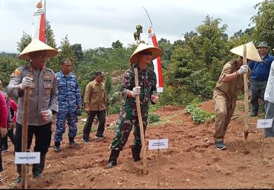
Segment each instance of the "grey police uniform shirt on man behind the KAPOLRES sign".
M34 79L33 85L30 87L28 124L34 126L48 124L49 122L43 121L40 112L42 108L50 108L50 110L55 112L58 111L55 73L45 67L42 68L41 72L36 72L31 64L16 68L10 76L10 83L6 88L8 96L19 96L16 122L22 124L24 94L19 93L18 88L20 87L22 78L26 77L27 74L31 75L31 78Z

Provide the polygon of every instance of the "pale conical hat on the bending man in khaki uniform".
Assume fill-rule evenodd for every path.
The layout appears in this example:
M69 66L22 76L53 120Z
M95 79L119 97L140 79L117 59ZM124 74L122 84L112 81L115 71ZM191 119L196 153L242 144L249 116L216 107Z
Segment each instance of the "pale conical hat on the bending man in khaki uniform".
M247 48L247 59L254 61L262 61L259 55L257 48L255 47L253 42L246 43ZM230 50L233 54L238 54L243 57L243 45L239 45L238 47L234 47Z

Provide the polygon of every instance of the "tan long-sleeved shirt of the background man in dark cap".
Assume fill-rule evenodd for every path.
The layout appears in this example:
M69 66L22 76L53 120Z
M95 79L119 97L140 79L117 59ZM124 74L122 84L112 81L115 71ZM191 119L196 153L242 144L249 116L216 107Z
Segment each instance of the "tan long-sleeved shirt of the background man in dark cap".
M85 103L89 103L89 110L106 110L106 89L105 84L99 84L96 80L89 82L85 89Z

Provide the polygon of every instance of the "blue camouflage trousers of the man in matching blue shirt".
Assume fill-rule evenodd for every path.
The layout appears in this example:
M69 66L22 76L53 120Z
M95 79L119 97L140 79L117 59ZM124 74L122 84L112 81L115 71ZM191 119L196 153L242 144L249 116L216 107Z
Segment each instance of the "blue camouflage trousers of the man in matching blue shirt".
M76 112L69 112L66 110L61 110L57 112L56 123L55 123L55 142L61 142L63 140L63 134L66 131L66 120L69 126L69 137L75 137L77 134L77 115Z

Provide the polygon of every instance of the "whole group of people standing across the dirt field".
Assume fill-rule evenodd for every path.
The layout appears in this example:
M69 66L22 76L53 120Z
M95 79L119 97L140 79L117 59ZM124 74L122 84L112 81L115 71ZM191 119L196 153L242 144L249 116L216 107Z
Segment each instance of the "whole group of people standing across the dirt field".
M247 64L244 63L243 47L246 47ZM224 65L215 88L213 100L216 111L214 145L217 149L226 149L224 135L236 107L238 92L244 92L244 73L250 78L252 111L250 117L257 117L259 112L258 99L264 101L266 119L274 118L274 57L268 53L270 47L266 42L260 42L257 47L253 43L240 45L231 50L238 58ZM45 157L52 138L52 115L56 115L54 133L54 152L62 151L61 142L68 126L69 145L77 146L75 141L78 127L78 116L85 105L87 121L82 131L82 141L92 142L90 137L94 118L99 124L94 138L104 139L106 110L108 109L106 87L103 82L103 71L94 73L94 80L85 88L85 96L81 98L80 87L72 64L69 59L62 59L60 71L54 73L46 67L49 57L55 57L58 51L45 43L33 40L20 53L19 59L28 61L25 66L16 68L10 75L6 92L0 93L0 148L1 152L8 151L8 138L14 145L15 152L22 152L22 119L24 97L29 90L29 117L27 131L27 149L31 148L35 136L34 152L41 153L40 163L33 164L34 178L41 177L45 168ZM144 133L147 128L149 103L155 104L159 97L153 92L157 90L157 77L148 65L161 55L161 49L140 43L129 62L131 66L124 72L121 85L122 103L120 115L115 126L115 136L110 144L109 168L117 165L120 151L127 143L131 129L134 129L134 141L131 144L131 154L134 161L140 161L140 124L142 117ZM134 69L138 71L138 84L135 82ZM0 90L2 82L0 80ZM12 98L16 98L16 103ZM137 111L136 99L140 100L140 112ZM15 128L15 134L13 134ZM266 137L274 136L274 124L266 130ZM0 154L0 182L3 171ZM18 177L22 181L22 165L17 164Z

